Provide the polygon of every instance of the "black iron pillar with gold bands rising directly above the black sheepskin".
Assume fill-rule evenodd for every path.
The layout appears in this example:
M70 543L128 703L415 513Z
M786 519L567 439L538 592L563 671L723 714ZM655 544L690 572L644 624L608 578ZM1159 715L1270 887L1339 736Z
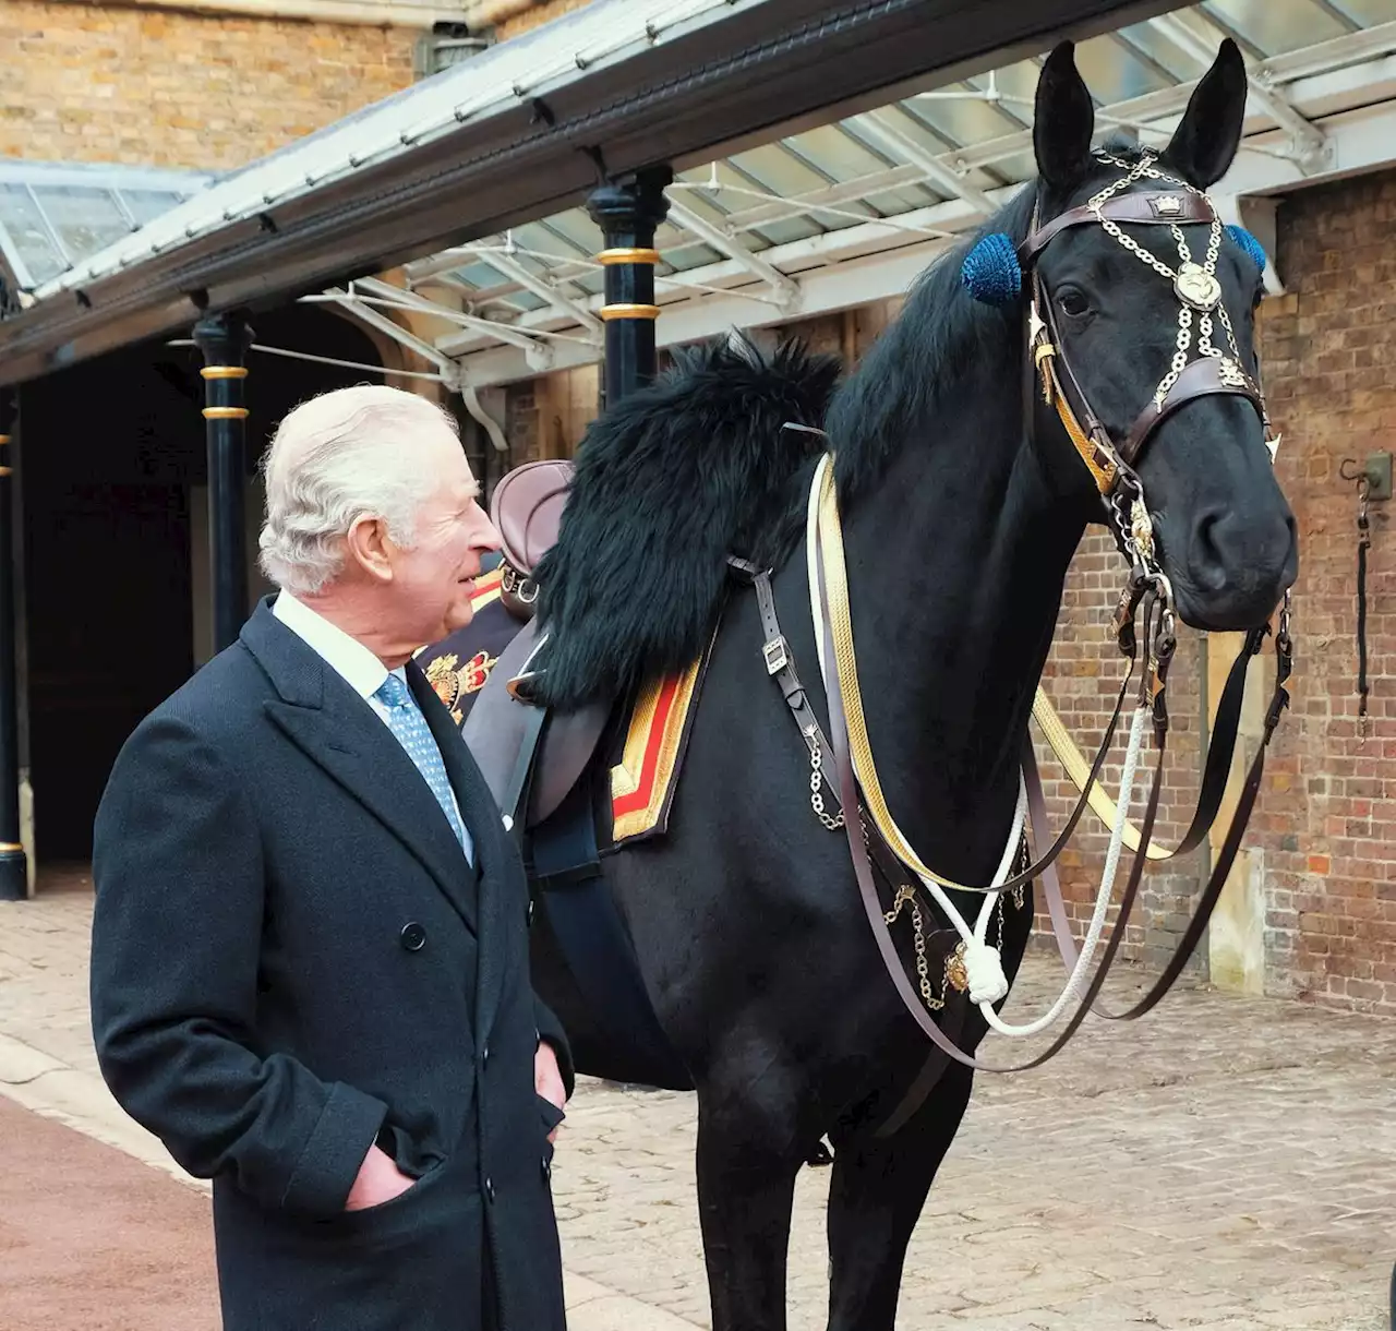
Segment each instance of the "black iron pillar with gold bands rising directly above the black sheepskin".
M603 406L614 405L655 377L655 228L669 212L664 186L674 179L667 166L648 166L600 186L586 211L602 229L606 249L606 377Z

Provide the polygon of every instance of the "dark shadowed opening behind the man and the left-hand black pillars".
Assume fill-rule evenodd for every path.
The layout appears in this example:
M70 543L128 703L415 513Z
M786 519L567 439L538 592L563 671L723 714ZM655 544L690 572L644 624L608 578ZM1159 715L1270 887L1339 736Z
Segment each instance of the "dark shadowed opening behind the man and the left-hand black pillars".
M264 313L253 327L262 345L380 363L363 332L318 309ZM91 856L92 818L117 751L205 655L198 367L193 348L152 344L21 392L25 751L45 867ZM260 492L251 478L276 423L307 397L381 376L257 352L248 367L254 557Z

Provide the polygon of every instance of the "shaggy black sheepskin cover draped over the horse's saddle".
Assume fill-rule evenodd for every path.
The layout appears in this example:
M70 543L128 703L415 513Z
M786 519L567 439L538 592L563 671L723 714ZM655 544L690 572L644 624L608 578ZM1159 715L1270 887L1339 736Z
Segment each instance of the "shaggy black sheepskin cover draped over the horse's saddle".
M557 543L536 570L539 701L572 709L681 670L712 635L727 556L779 567L840 363L787 344L711 344L595 420Z

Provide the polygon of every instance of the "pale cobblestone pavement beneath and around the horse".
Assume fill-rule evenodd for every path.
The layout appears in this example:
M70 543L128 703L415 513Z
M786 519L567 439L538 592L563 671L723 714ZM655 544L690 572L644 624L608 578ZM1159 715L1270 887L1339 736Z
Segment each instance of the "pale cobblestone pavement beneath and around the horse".
M101 1106L70 1105L105 1094L89 913L81 878L0 904L0 1073L28 1050L25 1085L3 1089L59 1085L46 1112L105 1135ZM1053 965L1030 961L1011 1013L1041 1010ZM1195 990L1142 1022L1089 1022L1040 1071L980 1077L912 1244L900 1331L1383 1331L1393 1064L1393 1021ZM588 1325L708 1324L694 1127L692 1096L584 1080L554 1193L577 1302L600 1314ZM826 1187L804 1172L793 1331L824 1325Z

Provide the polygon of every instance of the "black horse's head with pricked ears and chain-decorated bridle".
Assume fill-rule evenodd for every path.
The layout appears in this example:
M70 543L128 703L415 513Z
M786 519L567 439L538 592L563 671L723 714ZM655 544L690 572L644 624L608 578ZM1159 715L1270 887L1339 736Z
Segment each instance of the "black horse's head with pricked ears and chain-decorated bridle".
M1245 94L1228 41L1167 148L1092 152L1090 94L1058 46L1037 88L1037 216L1020 251L1046 324L1034 351L1051 348L1083 434L1103 430L1132 465L1178 612L1202 628L1263 623L1298 570L1254 346L1263 251L1203 193L1235 155ZM1043 433L1068 434L1055 413Z

